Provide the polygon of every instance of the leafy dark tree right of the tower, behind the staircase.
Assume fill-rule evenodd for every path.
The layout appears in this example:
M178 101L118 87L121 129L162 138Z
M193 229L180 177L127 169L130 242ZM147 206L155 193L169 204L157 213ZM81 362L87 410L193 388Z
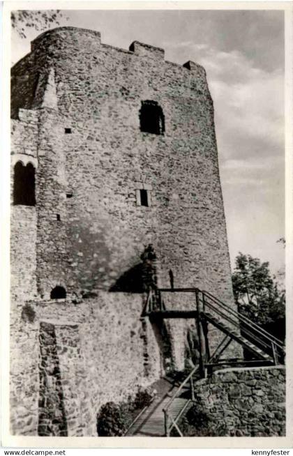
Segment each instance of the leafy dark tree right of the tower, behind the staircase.
M285 317L285 291L271 277L269 263L239 253L232 274L239 312L263 325Z

